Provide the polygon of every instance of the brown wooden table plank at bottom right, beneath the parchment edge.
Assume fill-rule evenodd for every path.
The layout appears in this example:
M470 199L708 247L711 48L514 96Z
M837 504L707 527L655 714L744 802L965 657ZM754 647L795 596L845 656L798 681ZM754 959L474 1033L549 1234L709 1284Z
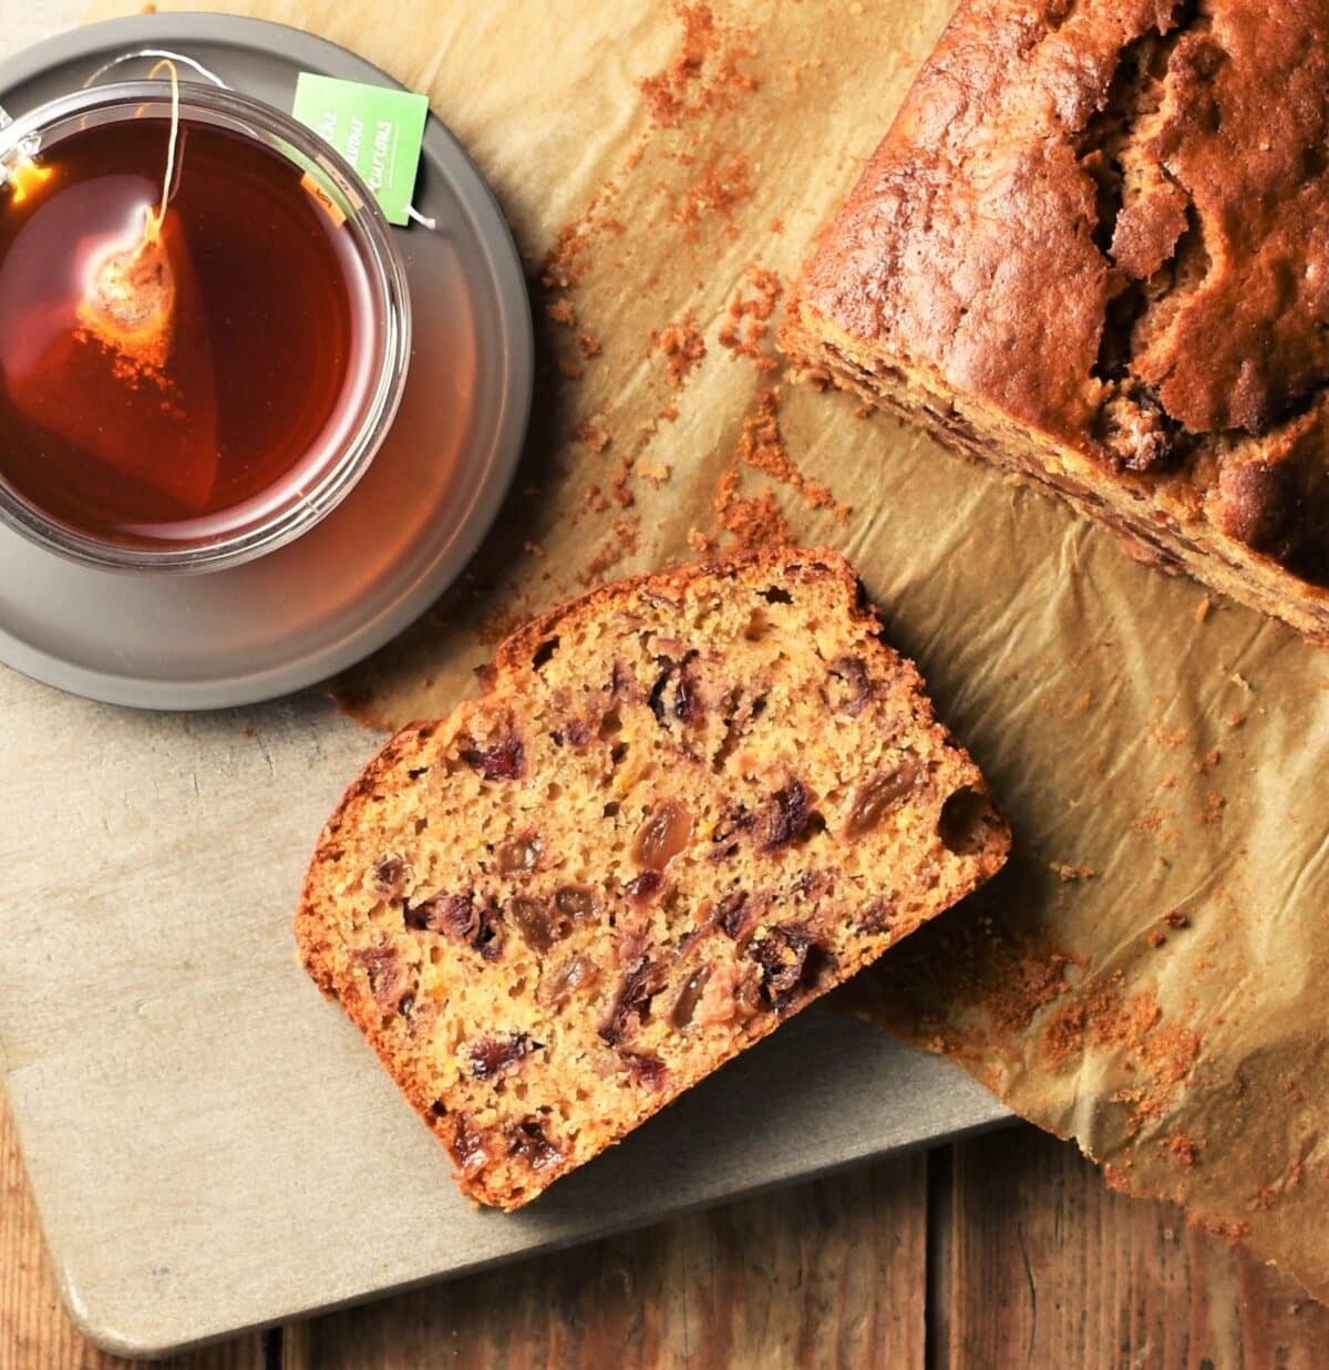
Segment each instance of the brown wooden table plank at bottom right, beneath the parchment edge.
M1033 1128L954 1148L948 1363L1319 1367L1329 1308Z

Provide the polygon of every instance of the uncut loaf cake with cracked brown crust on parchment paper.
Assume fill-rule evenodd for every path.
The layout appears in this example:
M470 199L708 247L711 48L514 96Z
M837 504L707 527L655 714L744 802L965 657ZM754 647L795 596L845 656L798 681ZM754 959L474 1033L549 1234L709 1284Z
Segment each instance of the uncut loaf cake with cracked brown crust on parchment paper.
M803 369L1329 637L1329 8L962 0Z

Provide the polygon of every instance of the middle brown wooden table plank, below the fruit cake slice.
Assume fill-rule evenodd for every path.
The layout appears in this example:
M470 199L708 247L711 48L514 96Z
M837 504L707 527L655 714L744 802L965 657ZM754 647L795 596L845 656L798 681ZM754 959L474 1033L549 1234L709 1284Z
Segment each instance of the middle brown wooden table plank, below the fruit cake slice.
M923 1365L926 1158L286 1329L282 1370Z

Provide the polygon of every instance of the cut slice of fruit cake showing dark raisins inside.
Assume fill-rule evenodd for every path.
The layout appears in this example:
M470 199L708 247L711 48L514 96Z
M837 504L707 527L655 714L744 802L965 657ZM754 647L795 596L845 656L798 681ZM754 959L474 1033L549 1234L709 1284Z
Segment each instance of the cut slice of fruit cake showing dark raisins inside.
M527 1203L1002 866L880 632L826 552L611 585L349 788L300 952L463 1192Z

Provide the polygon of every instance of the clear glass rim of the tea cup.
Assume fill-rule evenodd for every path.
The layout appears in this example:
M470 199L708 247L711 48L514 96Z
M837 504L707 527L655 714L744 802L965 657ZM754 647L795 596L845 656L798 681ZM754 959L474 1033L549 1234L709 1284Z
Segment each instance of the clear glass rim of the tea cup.
M160 81L118 81L71 90L0 129L0 158L12 149L30 149L32 140L41 140L45 130L78 115L123 105L129 116L142 116L145 107L169 110L170 103L170 90ZM308 532L345 499L373 462L400 407L411 356L406 264L377 199L341 153L285 111L229 86L181 79L179 111L181 118L212 115L207 122L249 136L256 126L273 153L319 173L322 186L333 193L355 234L378 341L369 359L366 393L358 401L359 421L341 451L329 456L314 482L290 504L232 533L185 545L108 541L51 518L0 480L0 522L48 551L110 571L221 570L253 560Z

